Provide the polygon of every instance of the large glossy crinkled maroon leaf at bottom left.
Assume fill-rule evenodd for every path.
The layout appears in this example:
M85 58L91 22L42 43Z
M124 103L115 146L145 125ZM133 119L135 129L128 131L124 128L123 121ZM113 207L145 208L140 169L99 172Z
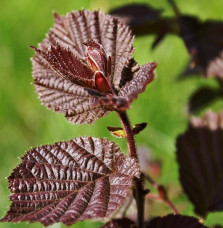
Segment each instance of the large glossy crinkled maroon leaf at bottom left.
M55 222L110 216L131 193L139 166L107 139L75 138L31 149L9 176L1 221Z

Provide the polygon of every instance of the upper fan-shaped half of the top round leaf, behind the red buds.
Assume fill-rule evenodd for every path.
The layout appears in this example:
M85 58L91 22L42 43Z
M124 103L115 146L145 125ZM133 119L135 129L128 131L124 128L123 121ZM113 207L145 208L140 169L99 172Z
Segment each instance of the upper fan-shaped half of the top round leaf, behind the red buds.
M39 45L39 49L47 51L50 45L55 46L58 43L64 48L69 48L79 59L86 61L85 43L91 39L101 44L106 55L111 56L110 77L118 89L122 70L132 58L134 37L128 26L121 24L117 19L99 11L87 10L74 11L65 17L56 14L55 25Z

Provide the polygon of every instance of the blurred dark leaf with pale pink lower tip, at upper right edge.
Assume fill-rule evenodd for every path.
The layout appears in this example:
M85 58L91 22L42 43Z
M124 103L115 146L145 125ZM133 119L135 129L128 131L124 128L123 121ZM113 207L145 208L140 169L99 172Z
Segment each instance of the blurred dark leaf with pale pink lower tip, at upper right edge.
M206 77L223 77L223 23L200 22L196 17L179 18L180 36L194 63Z

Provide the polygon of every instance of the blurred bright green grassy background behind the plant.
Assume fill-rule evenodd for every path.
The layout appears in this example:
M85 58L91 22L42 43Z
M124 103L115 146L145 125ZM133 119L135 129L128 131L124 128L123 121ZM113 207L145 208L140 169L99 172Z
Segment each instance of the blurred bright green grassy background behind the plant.
M101 9L108 12L123 4L143 1L127 0L1 0L0 1L0 216L9 208L8 183L5 177L20 162L30 147L68 140L77 136L107 137L126 150L125 140L113 138L106 126L119 126L115 113L97 120L94 125L71 125L59 114L48 111L40 104L32 85L30 57L33 51L28 45L37 45L53 25L53 11L65 14L72 10ZM147 1L155 8L162 8L163 16L173 16L165 0ZM201 20L223 20L222 0L176 1L182 13L196 15ZM185 131L188 122L187 101L189 96L202 85L217 87L215 80L190 77L177 80L189 61L183 41L176 36L167 36L151 51L153 36L135 40L135 59L144 64L156 61L156 79L145 93L133 102L128 111L133 124L148 122L148 127L136 137L138 146L149 148L150 156L162 162L159 183L168 186L170 197L178 209L187 215L193 214L193 206L184 194L178 181L178 166L175 159L175 140ZM219 109L222 102L213 105ZM161 208L161 209L160 209ZM171 211L161 203L153 215L164 215ZM212 213L206 224L216 222L223 225L222 213ZM36 224L2 223L0 227L42 227ZM99 223L78 222L74 227L98 227ZM64 227L55 224L52 227Z

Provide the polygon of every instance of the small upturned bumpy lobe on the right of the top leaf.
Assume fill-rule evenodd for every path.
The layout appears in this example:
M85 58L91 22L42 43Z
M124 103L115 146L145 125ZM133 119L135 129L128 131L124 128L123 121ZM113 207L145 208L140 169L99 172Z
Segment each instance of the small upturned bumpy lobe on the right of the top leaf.
M137 76L120 89L119 96L128 98L129 102L136 99L138 94L145 90L146 85L154 79L156 66L155 62L143 65Z

